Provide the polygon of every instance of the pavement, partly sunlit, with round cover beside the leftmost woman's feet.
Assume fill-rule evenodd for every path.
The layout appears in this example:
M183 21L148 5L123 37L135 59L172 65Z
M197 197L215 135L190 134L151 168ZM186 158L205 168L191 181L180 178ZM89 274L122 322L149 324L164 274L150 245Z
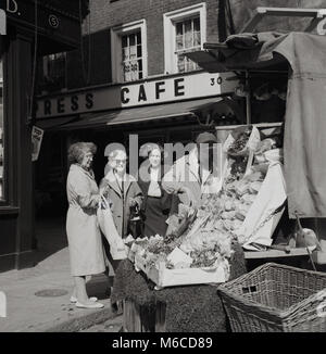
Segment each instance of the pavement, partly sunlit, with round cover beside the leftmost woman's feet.
M103 308L75 307L64 219L42 220L36 233L35 267L0 273L0 291L7 295L0 332L117 332L122 315L111 311L112 277L98 275L87 282L89 296L97 296Z

